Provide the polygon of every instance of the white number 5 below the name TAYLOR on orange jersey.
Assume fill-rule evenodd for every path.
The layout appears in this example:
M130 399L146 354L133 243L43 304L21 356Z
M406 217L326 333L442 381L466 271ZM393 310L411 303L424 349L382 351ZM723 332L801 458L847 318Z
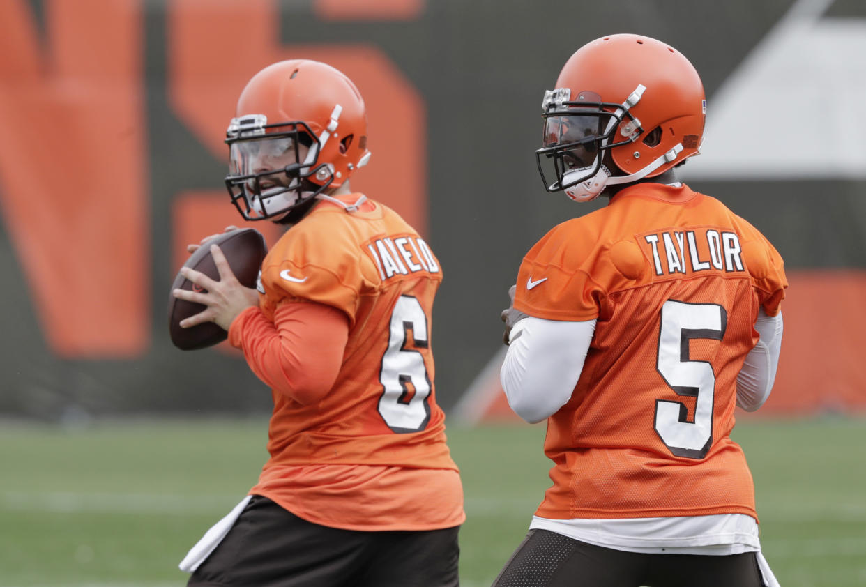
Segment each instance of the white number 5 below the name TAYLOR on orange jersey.
M658 372L677 395L695 397L694 419L681 402L656 400L656 433L674 455L702 459L713 443L715 373L707 361L688 357L691 339L721 340L727 312L715 304L668 300L662 306Z

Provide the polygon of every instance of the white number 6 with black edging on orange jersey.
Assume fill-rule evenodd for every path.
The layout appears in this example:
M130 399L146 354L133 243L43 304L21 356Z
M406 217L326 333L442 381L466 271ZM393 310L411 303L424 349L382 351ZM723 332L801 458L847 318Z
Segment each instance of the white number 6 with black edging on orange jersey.
M397 433L417 432L430 422L430 377L421 352L406 348L410 331L416 348L430 345L423 307L416 298L401 295L391 313L391 335L379 377L385 390L378 403L379 414Z

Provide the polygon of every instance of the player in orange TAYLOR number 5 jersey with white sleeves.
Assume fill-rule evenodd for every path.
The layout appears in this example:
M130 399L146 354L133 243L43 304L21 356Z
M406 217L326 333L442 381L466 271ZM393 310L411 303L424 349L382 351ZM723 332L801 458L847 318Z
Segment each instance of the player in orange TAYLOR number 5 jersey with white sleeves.
M666 43L611 35L543 108L546 190L610 203L529 250L502 313L502 387L547 420L553 487L495 585L776 585L730 433L772 388L787 283L757 229L675 177L701 146L701 79Z

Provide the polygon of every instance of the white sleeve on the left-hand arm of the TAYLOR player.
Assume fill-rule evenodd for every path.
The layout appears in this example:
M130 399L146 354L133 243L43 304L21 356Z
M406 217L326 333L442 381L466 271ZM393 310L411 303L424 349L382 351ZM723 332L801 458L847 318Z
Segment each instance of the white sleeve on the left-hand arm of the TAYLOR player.
M533 316L514 325L500 379L518 416L541 422L572 397L595 325L594 319L563 322Z

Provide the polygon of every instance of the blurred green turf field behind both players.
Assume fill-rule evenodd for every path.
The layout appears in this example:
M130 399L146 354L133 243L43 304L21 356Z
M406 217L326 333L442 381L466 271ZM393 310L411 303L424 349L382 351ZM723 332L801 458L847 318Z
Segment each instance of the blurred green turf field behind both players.
M488 585L547 487L543 426L449 429L469 519L462 584ZM255 481L264 420L0 423L0 585L184 584L177 564ZM866 420L740 422L783 587L866 585Z

